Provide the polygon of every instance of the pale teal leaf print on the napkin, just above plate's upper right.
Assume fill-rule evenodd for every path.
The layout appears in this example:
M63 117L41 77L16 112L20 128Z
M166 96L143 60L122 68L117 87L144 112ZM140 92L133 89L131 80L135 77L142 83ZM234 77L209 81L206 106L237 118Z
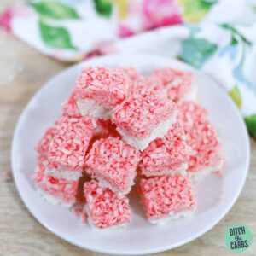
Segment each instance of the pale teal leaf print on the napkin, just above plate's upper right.
M183 61L194 67L201 67L218 49L205 38L188 38L182 42L182 53L179 56Z

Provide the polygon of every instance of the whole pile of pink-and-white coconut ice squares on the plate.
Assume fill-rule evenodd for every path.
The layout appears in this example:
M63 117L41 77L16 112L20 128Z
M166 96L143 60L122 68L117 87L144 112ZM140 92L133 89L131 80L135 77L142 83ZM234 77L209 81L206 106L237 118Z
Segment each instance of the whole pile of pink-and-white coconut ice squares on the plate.
M147 77L132 67L84 68L37 151L38 192L51 203L82 203L100 229L131 222L134 184L149 222L188 216L191 176L219 173L224 162L193 74L169 67Z

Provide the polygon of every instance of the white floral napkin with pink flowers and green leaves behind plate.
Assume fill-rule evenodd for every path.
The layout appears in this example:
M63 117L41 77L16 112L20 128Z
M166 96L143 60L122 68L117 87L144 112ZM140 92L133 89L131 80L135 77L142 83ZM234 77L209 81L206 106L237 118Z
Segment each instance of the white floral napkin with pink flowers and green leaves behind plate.
M222 84L256 137L255 0L26 1L0 15L0 25L61 61L113 52L177 57Z

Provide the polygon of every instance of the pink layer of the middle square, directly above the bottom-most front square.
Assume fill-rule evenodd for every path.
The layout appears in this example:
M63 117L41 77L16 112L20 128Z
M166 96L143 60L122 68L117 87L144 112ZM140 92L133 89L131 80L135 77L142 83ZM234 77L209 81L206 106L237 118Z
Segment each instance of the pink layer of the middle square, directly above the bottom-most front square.
M86 156L86 170L118 190L127 193L136 176L136 168L141 153L118 137L108 137L96 141Z

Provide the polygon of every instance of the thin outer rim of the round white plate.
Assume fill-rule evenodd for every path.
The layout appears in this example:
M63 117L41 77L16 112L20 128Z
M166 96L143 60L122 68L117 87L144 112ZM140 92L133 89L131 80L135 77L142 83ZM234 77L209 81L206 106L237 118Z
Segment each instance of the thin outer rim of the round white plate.
M140 55L140 56L145 56L145 57L159 57L161 59L165 59L165 60L168 60L168 61L173 61L173 62L177 62L181 65L183 65L184 67L188 67L188 69L192 70L192 71L195 71L196 73L201 73L205 76L207 76L209 79L212 79L211 76L207 75L206 73L202 72L201 70L196 70L195 68L193 67L190 67L187 63L183 62L183 61L178 61L174 58L169 58L169 57L166 57L166 56L162 56L162 55L154 55L154 54L112 54L112 55L103 55L103 56L98 56L98 57L95 57L93 59L90 59L90 60L87 60L87 61L81 61L79 63L76 63L74 65L71 65L70 67L67 67L67 68L64 68L63 70L61 70L61 72L59 73L56 73L55 76L53 76L51 79L49 79L46 83L44 83L42 85L42 87L40 87L38 89L38 91L30 98L30 100L26 103L26 106L25 108L23 108L21 114L20 114L20 117L19 119L17 120L17 123L16 123L16 126L15 126L15 131L13 133L13 138L12 138L12 143L11 143L11 167L12 167L12 173L13 173L13 177L14 177L14 181L15 181L15 188L17 189L18 191L18 194L20 195L20 198L21 198L21 201L23 202L23 204L26 206L28 212L32 215L33 218L35 218L39 224L42 224L44 226L44 228L46 228L47 230L49 230L50 232L52 232L55 236L57 237L60 237L61 239L63 239L64 241L67 241L79 248L82 248L82 249L87 249L87 250L90 250L90 251L93 251L93 252L98 252L98 253L110 253L110 254L116 254L116 255L143 255L143 254L148 254L148 253L160 253L160 252L163 252L163 251L166 251L166 250L170 250L172 248L175 248L175 247L180 247L184 244L187 244L189 243L190 241L194 241L195 239L197 239L198 237L202 236L203 234L205 234L207 231L211 230L216 224L218 224L218 222L224 218L224 216L226 216L226 214L228 212L230 212L230 209L234 206L234 204L236 203L239 195L241 195L241 190L243 189L244 185L245 185L245 182L247 180L247 174L248 174L248 170L249 170L249 165L250 165L250 159L251 159L251 147L250 147L250 143L249 143L249 136L246 137L246 141L245 141L245 144L246 144L246 149L247 149L247 159L246 159L246 172L244 174L244 176L242 177L242 180L241 180L241 183L240 183L240 187L238 189L236 189L236 195L233 197L233 201L230 201L230 203L228 204L228 206L224 209L224 213L221 214L221 215L218 215L218 218L214 218L214 221L212 221L210 224L208 224L204 229L201 229L200 232L197 232L195 233L195 236L189 236L187 239L184 239L183 241L179 241L179 242L176 242L176 243L173 243L172 245L167 245L167 246L163 246L163 247L157 247L155 249L143 249L143 250L133 250L133 251L129 251L129 253L125 253L125 252L122 252L120 250L117 250L117 251L114 251L114 250L108 250L108 249L102 249L102 248L97 248L97 247L93 247L93 246L90 246L90 245L85 245L84 247L81 247L80 244L78 244L76 241L74 241L71 238L67 238L66 236L62 236L60 233L57 233L54 229L52 229L48 224L44 223L43 221L41 221L37 214L33 211L32 207L28 206L26 204L26 198L22 195L21 191L20 191L20 187L18 185L18 181L17 181L17 177L16 177L16 174L15 174L15 164L14 164L14 159L15 159L15 143L17 141L17 134L18 134L18 131L20 130L20 126L23 122L23 119L25 118L26 116L26 112L27 110L30 108L30 106L32 105L32 102L34 101L34 99L42 93L42 91L46 90L46 88L49 87L49 84L51 84L55 79L61 77L62 73L66 73L68 70L70 69L73 69L75 67L79 67L79 66L82 66L83 64L86 64L88 61L94 61L94 60L98 60L98 61L101 61L101 59L108 59L108 58L121 58L121 57L129 57L131 58L132 56L135 56L135 55ZM216 84L219 84L218 81L216 81L215 79L212 79L214 80L214 82ZM239 113L239 110L236 108L236 105L234 102L232 102L232 100L230 99L229 96L226 95L226 93L224 93L224 91L222 92L226 98L226 100L230 101L231 102L231 105L232 105L232 108L234 109L234 113L236 113L236 116L238 117L239 119L239 122L241 123L241 127L242 127L242 130L247 134L247 128L246 128L246 125L244 123L244 120L242 119L241 117L241 113Z

